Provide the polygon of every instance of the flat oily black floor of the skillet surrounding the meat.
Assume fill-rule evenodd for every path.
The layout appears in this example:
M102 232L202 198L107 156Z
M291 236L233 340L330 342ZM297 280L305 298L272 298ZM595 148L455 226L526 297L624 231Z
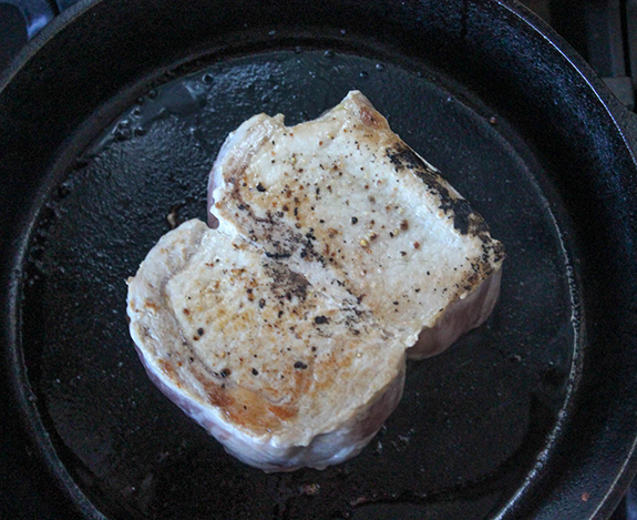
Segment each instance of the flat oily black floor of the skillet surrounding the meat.
M205 220L207 174L228 132L260 111L288 124L315 118L353 88L505 244L501 300L449 351L409 365L400 406L359 457L265 475L147 379L124 281L171 224ZM237 57L140 89L51 193L25 266L29 383L89 500L112 519L171 520L471 520L504 507L551 445L577 338L565 221L514 129L444 78L325 50Z

